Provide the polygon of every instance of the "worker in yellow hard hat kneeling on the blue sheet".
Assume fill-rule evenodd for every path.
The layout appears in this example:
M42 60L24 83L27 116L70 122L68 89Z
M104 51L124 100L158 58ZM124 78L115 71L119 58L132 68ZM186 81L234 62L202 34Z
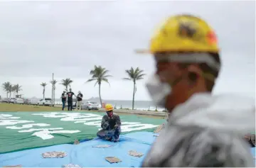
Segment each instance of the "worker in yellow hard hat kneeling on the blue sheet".
M121 133L121 121L116 113L113 113L114 107L111 104L106 104L106 115L102 118L102 130L97 132L97 136L104 140L117 142Z

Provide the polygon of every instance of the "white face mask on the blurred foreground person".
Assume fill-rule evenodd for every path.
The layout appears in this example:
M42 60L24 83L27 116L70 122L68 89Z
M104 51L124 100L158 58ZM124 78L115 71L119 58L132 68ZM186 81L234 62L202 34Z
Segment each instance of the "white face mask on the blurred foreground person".
M166 96L171 94L171 86L161 82L159 76L154 74L149 77L148 82L146 82L146 89L148 89L151 99L156 106L165 108Z

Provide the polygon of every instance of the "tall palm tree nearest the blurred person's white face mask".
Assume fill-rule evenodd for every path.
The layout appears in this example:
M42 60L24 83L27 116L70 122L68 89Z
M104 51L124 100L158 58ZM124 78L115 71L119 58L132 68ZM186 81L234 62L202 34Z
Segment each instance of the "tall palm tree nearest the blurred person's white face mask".
M134 96L137 91L136 82L137 80L143 79L144 75L146 74L144 74L143 73L144 71L139 69L139 67L137 67L135 70L133 67L131 67L131 69L127 69L125 70L125 72L128 74L128 78L123 78L123 79L132 81L134 84L134 91L132 94L132 110L134 110Z

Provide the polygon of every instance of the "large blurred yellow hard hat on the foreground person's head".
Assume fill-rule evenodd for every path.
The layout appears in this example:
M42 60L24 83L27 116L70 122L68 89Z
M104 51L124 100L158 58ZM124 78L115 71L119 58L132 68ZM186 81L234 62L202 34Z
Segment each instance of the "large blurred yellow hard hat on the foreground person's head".
M191 15L169 17L151 38L149 50L137 52L213 52L219 48L214 30Z

